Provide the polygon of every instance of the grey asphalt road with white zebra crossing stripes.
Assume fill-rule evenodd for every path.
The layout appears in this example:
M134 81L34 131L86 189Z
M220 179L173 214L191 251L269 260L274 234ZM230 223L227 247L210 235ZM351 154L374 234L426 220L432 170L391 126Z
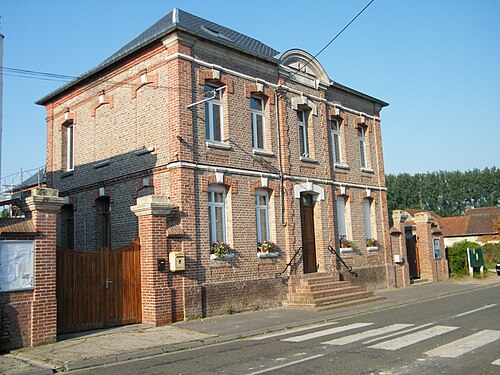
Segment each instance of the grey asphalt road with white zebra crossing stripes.
M500 286L79 374L500 374Z

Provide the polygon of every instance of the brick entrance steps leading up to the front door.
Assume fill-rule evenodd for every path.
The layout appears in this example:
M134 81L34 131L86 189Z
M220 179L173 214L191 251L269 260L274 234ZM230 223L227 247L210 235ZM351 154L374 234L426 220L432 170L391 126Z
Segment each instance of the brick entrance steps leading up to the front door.
M310 273L300 277L295 293L289 293L284 307L315 311L354 306L384 299L349 281L338 281L332 274Z

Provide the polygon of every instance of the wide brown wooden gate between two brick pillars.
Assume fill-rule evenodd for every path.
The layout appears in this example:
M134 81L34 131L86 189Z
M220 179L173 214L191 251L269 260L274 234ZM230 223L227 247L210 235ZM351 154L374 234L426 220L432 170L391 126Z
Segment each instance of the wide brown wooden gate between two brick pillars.
M139 240L117 250L57 248L57 332L140 323Z

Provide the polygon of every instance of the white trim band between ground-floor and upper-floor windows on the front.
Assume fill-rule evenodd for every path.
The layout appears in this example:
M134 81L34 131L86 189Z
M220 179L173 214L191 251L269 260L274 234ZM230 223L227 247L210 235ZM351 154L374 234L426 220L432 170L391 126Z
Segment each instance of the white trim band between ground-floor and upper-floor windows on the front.
M254 176L254 177L266 176L266 177L275 178L275 179L280 177L277 173L262 173L262 171L251 171L251 170L231 168L231 167L221 168L220 166L207 165L207 164L201 164L201 163L191 163L191 162L186 162L186 161L177 161L177 162L169 163L167 165L167 168L168 168L168 170L177 169L177 168L191 168L191 169L197 169L197 170L201 170L201 171L211 171L211 172L225 171L228 174L238 174L238 175L242 175L242 176ZM287 174L284 174L283 178L286 180L290 180L290 181L304 181L304 182L310 181L310 182L314 182L317 184L334 185L334 186L339 186L339 187L345 186L345 187L352 187L352 188L359 188L359 189L372 189L372 190L377 190L377 191L387 191L387 188L383 187L383 186L354 184L354 183L350 183L350 182L324 180L321 178L292 176L292 175L287 175Z

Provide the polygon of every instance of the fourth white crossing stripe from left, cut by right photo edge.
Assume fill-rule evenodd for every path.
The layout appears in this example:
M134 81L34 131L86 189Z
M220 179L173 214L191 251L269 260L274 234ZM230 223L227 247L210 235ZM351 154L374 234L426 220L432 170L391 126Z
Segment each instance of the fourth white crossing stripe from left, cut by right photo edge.
M492 343L499 338L500 331L485 329L460 340L429 350L425 354L429 357L457 358L474 349Z

